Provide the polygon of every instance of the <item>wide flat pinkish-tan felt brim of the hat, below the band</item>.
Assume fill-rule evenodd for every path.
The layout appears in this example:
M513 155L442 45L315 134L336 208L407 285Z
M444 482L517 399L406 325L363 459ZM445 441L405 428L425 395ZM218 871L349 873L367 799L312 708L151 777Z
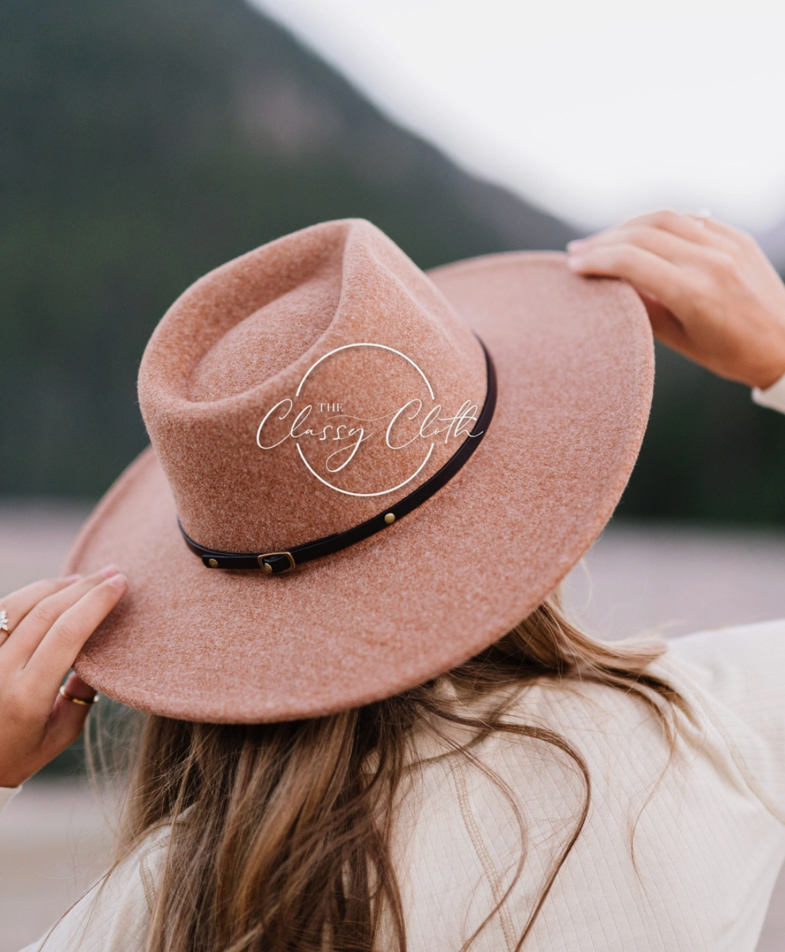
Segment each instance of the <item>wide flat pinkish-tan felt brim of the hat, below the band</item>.
M430 277L497 368L496 414L468 464L383 533L268 576L209 570L188 551L147 449L69 556L69 571L113 562L128 576L74 665L88 684L192 721L332 713L461 664L579 561L648 419L654 350L638 295L572 274L557 253L491 255Z

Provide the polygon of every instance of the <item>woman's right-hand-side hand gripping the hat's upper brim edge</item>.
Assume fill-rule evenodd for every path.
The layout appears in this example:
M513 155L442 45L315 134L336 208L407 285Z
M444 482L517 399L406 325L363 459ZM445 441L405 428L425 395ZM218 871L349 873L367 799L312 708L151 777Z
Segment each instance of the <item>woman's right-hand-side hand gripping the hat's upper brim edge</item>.
M785 286L746 232L658 211L567 250L579 274L629 281L658 340L697 364L761 389L785 374Z

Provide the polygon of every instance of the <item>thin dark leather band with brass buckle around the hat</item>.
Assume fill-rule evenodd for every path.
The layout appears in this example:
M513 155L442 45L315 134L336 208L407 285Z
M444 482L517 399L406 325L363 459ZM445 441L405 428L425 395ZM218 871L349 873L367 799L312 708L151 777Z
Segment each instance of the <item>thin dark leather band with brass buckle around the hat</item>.
M333 535L324 536L323 539L316 539L314 542L294 545L283 552L222 552L218 549L206 548L186 535L178 519L177 525L180 526L180 531L183 533L188 548L199 556L207 568L261 568L267 574L280 575L282 572L287 572L304 562L321 559L324 555L340 552L341 549L362 542L363 539L367 539L369 536L397 523L399 519L411 512L412 509L416 509L417 506L421 506L426 499L430 499L442 486L449 483L453 476L459 472L461 466L468 461L475 449L480 446L482 437L488 430L488 425L496 409L496 368L485 345L482 342L480 343L485 354L488 386L485 403L482 406L477 423L444 466L437 470L422 486L418 486L417 489L410 492L408 496L404 496L394 506L384 509L383 512L367 519L359 526L346 529L345 532L336 532Z

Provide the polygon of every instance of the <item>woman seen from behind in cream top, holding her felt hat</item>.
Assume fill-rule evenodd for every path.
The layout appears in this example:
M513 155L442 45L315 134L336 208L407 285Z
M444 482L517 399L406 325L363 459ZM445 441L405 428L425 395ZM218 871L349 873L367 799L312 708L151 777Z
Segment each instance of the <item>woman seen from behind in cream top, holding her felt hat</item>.
M88 684L147 712L116 862L34 948L755 948L785 622L603 645L547 592L618 501L651 387L639 299L579 276L626 279L660 340L781 411L785 288L747 235L674 212L567 265L428 279L329 223L171 308L140 371L157 458L91 517L81 574L1 605L6 800L79 735ZM128 581L95 570L112 553Z

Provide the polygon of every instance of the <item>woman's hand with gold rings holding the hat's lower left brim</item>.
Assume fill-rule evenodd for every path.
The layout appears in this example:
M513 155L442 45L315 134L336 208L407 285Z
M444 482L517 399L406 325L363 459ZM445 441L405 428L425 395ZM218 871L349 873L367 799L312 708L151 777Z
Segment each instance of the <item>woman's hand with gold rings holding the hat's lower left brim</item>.
M82 645L128 586L113 566L47 579L0 599L0 786L17 786L82 733L89 706L58 695ZM75 674L65 690L91 701Z

